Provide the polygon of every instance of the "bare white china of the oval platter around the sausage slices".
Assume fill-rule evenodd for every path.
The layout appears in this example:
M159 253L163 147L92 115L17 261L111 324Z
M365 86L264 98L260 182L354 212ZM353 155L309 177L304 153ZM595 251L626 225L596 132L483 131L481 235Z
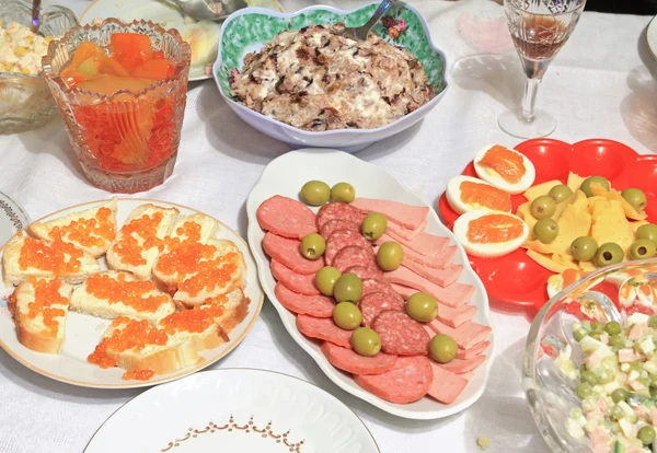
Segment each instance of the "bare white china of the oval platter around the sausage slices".
M469 303L479 310L473 321L492 326L486 290L477 275L472 270L465 251L457 242L451 231L440 222L434 208L380 166L364 162L343 151L320 148L291 151L272 161L263 171L246 201L249 245L258 266L261 284L267 298L276 307L287 332L314 359L331 381L345 392L387 413L408 419L430 420L445 418L470 407L482 396L488 382L493 358L495 357L495 332L492 332L488 338L491 348L486 352L485 363L474 370L474 376L452 404L440 404L428 396L411 404L393 404L365 391L354 382L348 373L334 368L322 353L319 342L309 340L299 332L295 314L278 302L274 290L276 280L269 270L269 258L262 247L265 232L257 223L256 211L264 200L274 195L298 199L301 186L313 179L324 181L328 185L343 181L347 182L355 187L357 196L360 197L381 198L413 206L429 206L429 213L426 218L428 223L425 231L430 234L447 236L452 244L458 245L454 264L461 264L464 267L463 275L458 281L474 287L474 294ZM318 208L311 209L318 210Z

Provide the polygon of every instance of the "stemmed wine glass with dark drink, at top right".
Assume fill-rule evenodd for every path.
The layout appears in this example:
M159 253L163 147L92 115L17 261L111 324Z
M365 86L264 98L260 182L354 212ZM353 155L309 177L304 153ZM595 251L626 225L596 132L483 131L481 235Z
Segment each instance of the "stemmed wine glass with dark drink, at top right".
M504 0L509 31L525 76L525 94L519 108L503 113L497 123L519 138L545 137L556 121L534 108L539 85L550 63L566 44L579 21L586 0Z

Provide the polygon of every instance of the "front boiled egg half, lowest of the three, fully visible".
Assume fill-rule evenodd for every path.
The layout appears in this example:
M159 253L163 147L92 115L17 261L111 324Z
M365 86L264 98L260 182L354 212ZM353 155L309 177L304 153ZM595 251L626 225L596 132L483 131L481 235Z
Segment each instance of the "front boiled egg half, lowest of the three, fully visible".
M529 228L518 216L476 210L459 217L453 232L469 255L497 258L520 248L529 235Z

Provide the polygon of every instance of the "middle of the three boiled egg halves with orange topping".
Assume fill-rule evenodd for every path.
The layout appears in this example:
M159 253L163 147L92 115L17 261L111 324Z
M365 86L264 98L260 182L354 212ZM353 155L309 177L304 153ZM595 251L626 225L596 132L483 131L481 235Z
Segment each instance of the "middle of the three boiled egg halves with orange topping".
M458 213L485 209L510 212L511 196L472 176L454 176L447 183L447 201Z

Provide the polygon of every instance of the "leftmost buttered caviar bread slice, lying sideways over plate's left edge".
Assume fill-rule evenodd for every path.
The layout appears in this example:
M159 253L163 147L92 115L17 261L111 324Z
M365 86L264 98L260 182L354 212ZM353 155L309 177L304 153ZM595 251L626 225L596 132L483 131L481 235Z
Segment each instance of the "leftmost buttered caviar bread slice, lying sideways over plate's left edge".
M65 282L74 284L83 281L88 276L100 270L99 262L91 254L72 246L72 244L66 245L76 249L80 256L78 258L72 258L70 254L64 253L62 257L64 264L70 264L72 259L78 259L80 262L80 266L77 268L77 270L57 270L57 268L53 268L49 265L42 266L37 263L33 263L33 265L28 266L22 266L20 262L21 256L26 253L26 249L24 249L26 244L28 245L26 249L31 249L31 247L33 247L38 248L42 252L46 251L48 254L55 252L55 249L61 245L61 243L58 245L58 243L28 237L24 232L19 231L19 233L7 243L2 253L2 276L4 279L4 284L8 287L10 284L19 284L25 281L28 277L59 277ZM54 254L55 253L51 255ZM39 256L43 255L44 254L42 253Z

